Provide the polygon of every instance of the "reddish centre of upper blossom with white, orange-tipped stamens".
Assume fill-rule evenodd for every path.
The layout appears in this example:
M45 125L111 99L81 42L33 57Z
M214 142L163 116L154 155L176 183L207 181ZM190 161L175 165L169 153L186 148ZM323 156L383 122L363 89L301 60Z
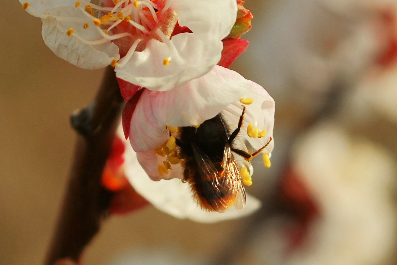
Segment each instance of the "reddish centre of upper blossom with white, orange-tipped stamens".
M171 34L177 23L177 13L170 9L172 0L100 0L100 4L89 1L75 2L82 14L91 23L81 23L83 29L96 27L100 38L89 40L83 34L76 34L73 28L67 31L68 36L74 36L87 45L98 45L112 41L119 47L120 60L113 59L110 65L123 66L135 51L145 49L149 39L156 39L168 46L169 56L161 58L163 65L170 64L174 48L170 42ZM22 5L27 9L28 3ZM29 13L40 18L49 15L37 14L33 10ZM58 21L80 22L81 17L55 17ZM86 21L85 21L86 22Z

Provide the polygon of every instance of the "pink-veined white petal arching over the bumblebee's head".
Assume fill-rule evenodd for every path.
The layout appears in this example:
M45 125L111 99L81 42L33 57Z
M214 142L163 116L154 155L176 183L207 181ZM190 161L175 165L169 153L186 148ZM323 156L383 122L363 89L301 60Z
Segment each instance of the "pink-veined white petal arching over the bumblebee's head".
M131 118L129 139L137 152L150 151L168 139L166 125L198 125L216 116L249 91L251 81L216 66L208 74L171 91L144 91Z

